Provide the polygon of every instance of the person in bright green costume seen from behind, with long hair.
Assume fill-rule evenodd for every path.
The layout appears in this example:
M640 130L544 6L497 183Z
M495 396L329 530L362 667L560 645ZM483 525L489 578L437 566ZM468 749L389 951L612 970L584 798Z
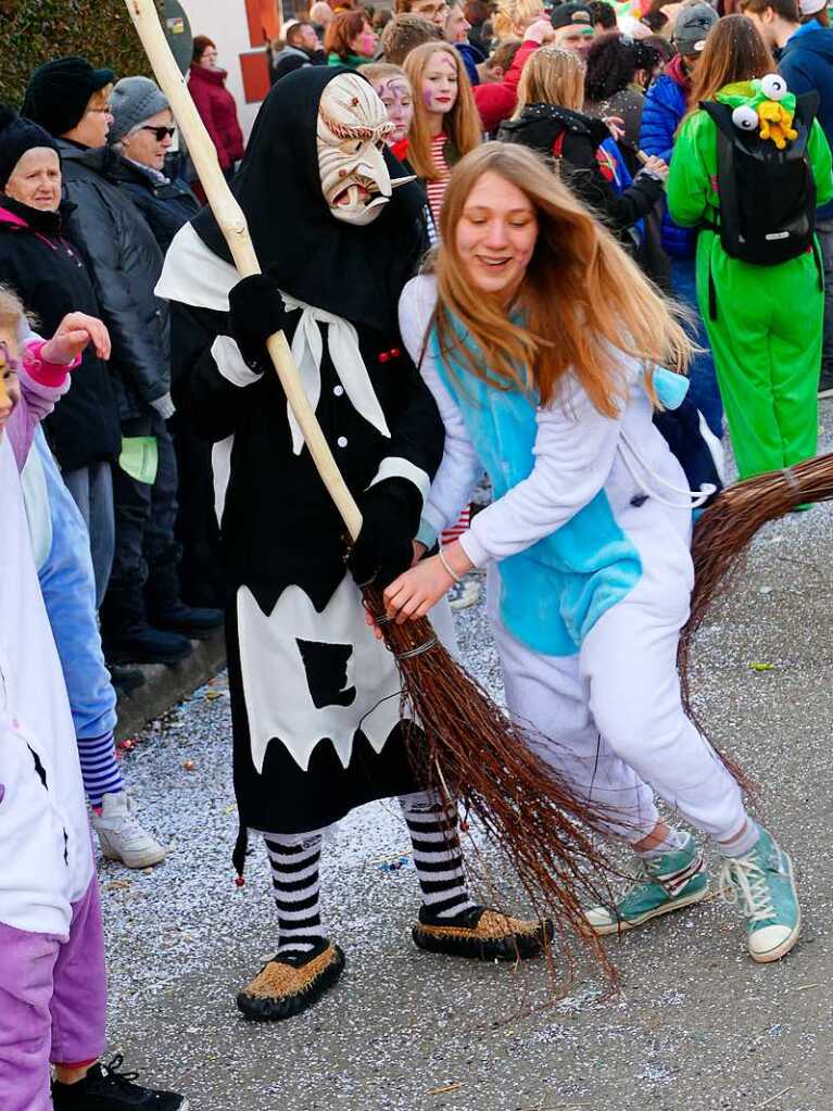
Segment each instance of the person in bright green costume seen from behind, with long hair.
M810 221L816 203L833 198L831 152L812 109L807 111L805 102L802 110L800 103L796 112L795 98L774 69L750 20L729 16L713 27L691 96L692 104L707 102L711 110L701 108L683 121L668 183L673 219L700 228L697 298L741 478L814 456L819 428L824 284ZM771 144L772 154L783 152L773 164L783 167L793 146L804 144L802 167L809 166L810 173L802 173L809 180L804 199L797 200L797 217L809 226L809 234L797 253L780 256L783 261L762 257L756 264L729 253L726 198L733 183L721 180L720 151L732 138L719 126L721 106L727 106L723 128L736 129L739 137L751 132L751 149L761 152ZM766 164L761 162L762 171ZM792 189L779 188L761 172L753 184L739 189L740 203L754 204L756 189L773 209L793 198ZM781 227L769 229L771 249L781 249L786 234Z

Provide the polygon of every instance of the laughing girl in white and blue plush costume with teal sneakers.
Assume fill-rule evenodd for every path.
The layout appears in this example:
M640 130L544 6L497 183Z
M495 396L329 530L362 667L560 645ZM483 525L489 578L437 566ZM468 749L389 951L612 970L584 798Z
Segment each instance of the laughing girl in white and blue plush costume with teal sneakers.
M610 832L640 861L621 902L589 910L598 933L706 893L700 850L660 820L651 782L715 839L752 958L784 955L800 930L790 858L680 697L692 503L652 413L658 396L672 406L684 393L655 364L686 359L685 333L568 188L502 143L455 170L436 274L405 287L400 324L414 359L424 348L445 424L426 526L454 519L482 467L495 501L388 587L389 614L424 615L455 577L488 568L510 712L558 741L542 754L612 808Z

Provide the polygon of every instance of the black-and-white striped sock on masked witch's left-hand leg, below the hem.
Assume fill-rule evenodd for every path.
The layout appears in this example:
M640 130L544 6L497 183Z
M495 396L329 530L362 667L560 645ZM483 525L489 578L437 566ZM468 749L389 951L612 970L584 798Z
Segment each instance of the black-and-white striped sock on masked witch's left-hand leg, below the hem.
M323 830L264 838L278 904L278 954L309 953L323 937L319 864Z

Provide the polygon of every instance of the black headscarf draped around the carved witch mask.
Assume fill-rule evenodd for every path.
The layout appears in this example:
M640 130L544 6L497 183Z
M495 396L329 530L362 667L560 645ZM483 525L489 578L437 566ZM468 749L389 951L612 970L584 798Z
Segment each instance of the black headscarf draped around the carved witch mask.
M397 304L424 250L424 198L394 189L364 227L337 220L321 191L315 127L319 101L343 66L308 66L282 78L261 106L231 190L249 223L261 269L285 293L378 331L398 331ZM405 170L385 150L392 178ZM231 261L210 209L194 217L202 241Z

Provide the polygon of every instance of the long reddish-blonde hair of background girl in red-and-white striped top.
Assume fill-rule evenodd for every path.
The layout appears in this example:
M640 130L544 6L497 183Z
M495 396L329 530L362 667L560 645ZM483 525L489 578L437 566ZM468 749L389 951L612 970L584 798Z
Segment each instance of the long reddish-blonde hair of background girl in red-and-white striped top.
M425 181L433 181L440 177L431 154L431 131L425 98L422 93L422 79L431 64L431 59L438 53L446 54L456 67L456 100L445 117L445 133L461 158L479 146L482 134L480 116L460 51L451 43L441 42L439 39L436 42L424 42L412 50L403 62L403 69L413 89L413 123L409 134L408 161L416 177Z

